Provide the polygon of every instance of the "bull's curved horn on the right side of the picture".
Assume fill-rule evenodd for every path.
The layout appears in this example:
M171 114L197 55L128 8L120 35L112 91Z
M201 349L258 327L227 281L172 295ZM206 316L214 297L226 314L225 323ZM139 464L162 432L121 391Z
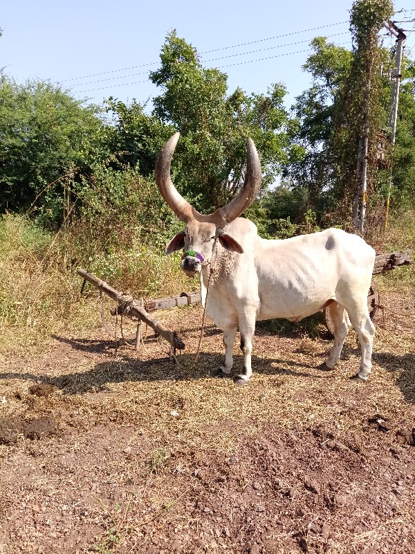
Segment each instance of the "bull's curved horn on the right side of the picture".
M254 141L248 139L246 143L246 175L245 182L239 195L229 204L220 208L221 216L225 222L230 223L243 213L254 202L261 186L261 162Z

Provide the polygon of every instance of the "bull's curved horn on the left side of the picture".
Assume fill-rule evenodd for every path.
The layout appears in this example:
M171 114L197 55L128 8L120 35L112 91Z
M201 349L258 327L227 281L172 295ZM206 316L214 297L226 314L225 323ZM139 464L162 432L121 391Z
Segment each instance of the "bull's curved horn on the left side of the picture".
M158 154L156 161L156 183L169 208L174 211L179 220L187 223L189 220L192 220L197 212L177 192L176 187L172 183L172 177L170 177L170 164L172 163L174 149L176 148L179 136L180 133L171 136L163 146L160 154Z

